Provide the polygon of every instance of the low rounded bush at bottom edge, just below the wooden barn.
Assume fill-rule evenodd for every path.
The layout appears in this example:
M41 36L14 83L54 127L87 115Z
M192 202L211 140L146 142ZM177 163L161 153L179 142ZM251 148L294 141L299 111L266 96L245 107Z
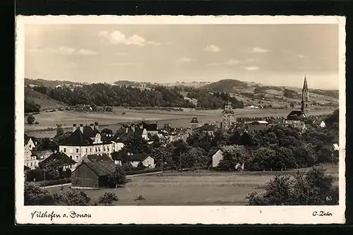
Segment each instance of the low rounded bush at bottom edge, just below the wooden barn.
M53 198L59 205L88 205L90 202L88 195L78 189L71 189L61 195L54 193Z

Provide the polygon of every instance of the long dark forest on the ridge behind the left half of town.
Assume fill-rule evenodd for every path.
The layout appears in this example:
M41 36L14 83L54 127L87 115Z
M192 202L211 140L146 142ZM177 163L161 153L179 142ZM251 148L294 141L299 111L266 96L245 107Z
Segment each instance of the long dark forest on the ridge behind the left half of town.
M48 88L37 86L37 92L48 95L53 100L69 105L95 104L97 106L123 106L123 107L195 107L179 94L176 88L157 86L152 90L140 90L131 86L109 85L95 83L75 87Z

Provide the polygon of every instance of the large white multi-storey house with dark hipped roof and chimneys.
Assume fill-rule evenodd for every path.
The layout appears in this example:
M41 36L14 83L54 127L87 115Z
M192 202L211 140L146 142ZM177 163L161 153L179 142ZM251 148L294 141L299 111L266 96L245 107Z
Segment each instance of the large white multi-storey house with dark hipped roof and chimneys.
M64 152L76 162L80 162L85 155L110 155L117 148L116 143L109 140L112 137L101 135L97 122L90 126L80 124L79 127L73 124L73 133L61 143L59 152Z

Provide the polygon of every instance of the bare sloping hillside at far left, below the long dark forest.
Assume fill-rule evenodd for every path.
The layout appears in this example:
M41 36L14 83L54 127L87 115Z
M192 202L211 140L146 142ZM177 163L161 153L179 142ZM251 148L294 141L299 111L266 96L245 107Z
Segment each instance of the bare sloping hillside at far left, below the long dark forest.
M32 89L25 88L25 99L30 102L40 104L40 109L57 109L59 107L66 107L67 104L53 100L47 95L43 95L40 92L36 92Z

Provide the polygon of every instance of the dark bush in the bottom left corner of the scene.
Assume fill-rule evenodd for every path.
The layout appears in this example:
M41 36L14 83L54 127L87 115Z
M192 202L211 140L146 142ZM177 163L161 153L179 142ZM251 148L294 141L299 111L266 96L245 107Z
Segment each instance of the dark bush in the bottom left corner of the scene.
M24 200L25 205L55 205L52 195L32 182L25 182Z

